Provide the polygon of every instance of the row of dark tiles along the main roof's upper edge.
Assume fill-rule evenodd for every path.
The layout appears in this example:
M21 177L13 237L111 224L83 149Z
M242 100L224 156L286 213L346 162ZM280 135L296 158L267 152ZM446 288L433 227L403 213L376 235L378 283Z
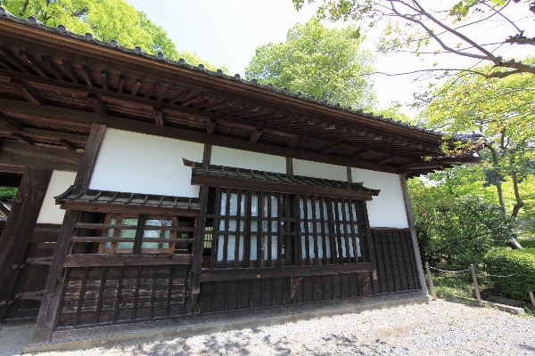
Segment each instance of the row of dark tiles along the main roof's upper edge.
M72 33L72 32L70 32L70 30L68 28L66 28L63 25L58 25L56 28L52 28L52 27L46 26L45 24L39 22L35 17L31 17L30 16L27 20L19 19L18 17L12 15L12 13L8 12L7 10L5 10L3 7L0 7L0 19L2 19L2 20L10 20L12 22L16 22L16 23L19 23L21 25L29 26L31 28L39 28L39 29L42 29L44 31L51 32L51 33L54 33L54 34L57 34L57 35L67 36L67 37L70 37L70 38L75 38L75 39L77 39L79 41L98 44L98 45L101 45L103 47L111 48L111 49L114 49L114 50L117 50L117 51L121 51L123 53L134 54L134 55L141 56L141 57L144 57L144 58L147 58L147 59L151 59L153 61L163 61L163 62L166 62L168 64L175 65L178 68L190 69L190 70L193 70L193 71L206 73L206 74L209 74L209 75L214 76L214 77L223 77L223 78L226 78L228 80L234 81L236 83L241 83L241 84L244 84L244 85L251 85L251 86L259 87L259 88L262 88L262 89L267 90L269 92L284 94L286 96L289 96L289 97L292 97L292 98L297 98L297 99L300 99L302 101L309 101L309 102L313 102L313 103L316 103L316 104L323 105L323 106L328 107L328 108L338 109L338 110L341 110L341 111L344 111L344 112L350 112L350 113L357 114L357 115L362 116L362 117L373 118L373 119L375 119L377 121L382 121L382 122L385 122L385 123L388 123L388 124L391 124L391 125L398 125L398 126L401 126L401 127L406 127L406 128L413 129L413 130L420 131L420 132L424 132L424 133L435 134L435 135L437 135L439 137L442 137L442 136L445 135L445 134L440 133L438 131L426 129L424 127L417 126L417 125L410 125L410 124L407 124L407 123L399 121L399 120L393 120L392 118L383 117L381 115L380 116L375 116L373 113L365 113L361 109L353 109L353 108L350 108L350 107L344 108L339 103L330 103L330 102L328 102L326 100L320 101L320 100L317 100L317 98L315 98L314 96L306 97L306 96L303 96L303 94L300 93L300 92L298 92L298 93L290 93L288 91L288 89L286 89L286 88L278 89L278 88L274 87L271 84L260 85L256 79L245 80L239 74L236 74L234 77L227 76L223 72L223 70L221 70L221 69L218 69L217 71L213 72L213 71L210 71L210 70L204 68L204 66L202 64L199 64L197 67L194 67L194 66L186 63L185 60L183 60L183 59L179 59L178 61L171 61L171 60L166 59L165 56L163 55L163 53L158 53L157 55L151 55L151 54L148 54L148 53L144 53L143 49L141 47L139 47L139 46L136 46L134 49L125 48L125 47L122 47L119 44L119 42L117 40L115 40L115 39L111 39L111 41L109 41L109 42L103 42L103 41L100 41L100 40L96 39L95 36L93 36L93 34L90 34L90 33L86 33L86 35L84 35L84 36L80 36L80 35L77 35L75 33ZM457 139L462 139L462 138L458 137Z

